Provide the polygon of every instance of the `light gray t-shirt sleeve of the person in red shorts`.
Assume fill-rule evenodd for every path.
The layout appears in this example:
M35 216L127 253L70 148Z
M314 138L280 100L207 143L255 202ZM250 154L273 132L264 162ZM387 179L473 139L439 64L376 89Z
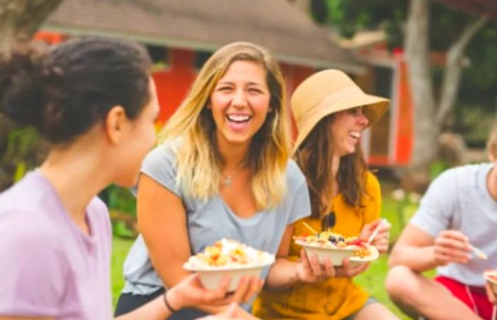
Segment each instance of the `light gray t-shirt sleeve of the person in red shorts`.
M435 179L422 197L410 223L436 237L449 228L457 199L454 170L449 170Z

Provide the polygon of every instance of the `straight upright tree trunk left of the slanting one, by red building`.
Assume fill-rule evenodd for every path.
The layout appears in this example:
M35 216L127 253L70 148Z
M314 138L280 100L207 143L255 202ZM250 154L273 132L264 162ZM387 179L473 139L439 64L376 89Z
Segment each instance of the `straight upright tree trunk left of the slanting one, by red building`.
M428 0L411 0L405 28L405 55L414 109L414 150L410 171L427 171L437 154L433 116L435 99L428 48Z

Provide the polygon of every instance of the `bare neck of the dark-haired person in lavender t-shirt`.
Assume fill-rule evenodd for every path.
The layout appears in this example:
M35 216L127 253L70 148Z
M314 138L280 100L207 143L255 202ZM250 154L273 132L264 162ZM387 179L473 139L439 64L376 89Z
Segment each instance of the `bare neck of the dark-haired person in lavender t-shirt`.
M55 188L67 214L85 233L86 208L92 198L111 182L100 153L89 145L69 145L51 150L40 172Z

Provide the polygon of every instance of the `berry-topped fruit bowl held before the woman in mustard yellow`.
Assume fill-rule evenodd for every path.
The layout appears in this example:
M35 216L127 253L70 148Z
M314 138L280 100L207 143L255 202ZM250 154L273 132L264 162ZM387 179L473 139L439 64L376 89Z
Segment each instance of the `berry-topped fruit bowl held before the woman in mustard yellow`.
M301 245L308 257L317 255L320 263L328 258L334 266L341 266L345 258L351 264L368 263L379 256L374 245L357 237L344 237L339 233L323 231L314 236L295 236L294 241Z

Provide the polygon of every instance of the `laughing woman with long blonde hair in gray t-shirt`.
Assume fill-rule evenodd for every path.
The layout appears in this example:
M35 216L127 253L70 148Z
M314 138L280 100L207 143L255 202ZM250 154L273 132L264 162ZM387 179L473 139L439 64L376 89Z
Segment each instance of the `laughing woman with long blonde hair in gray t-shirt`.
M137 193L141 236L124 264L117 314L187 277L182 264L221 238L278 251L293 222L310 214L305 177L289 160L288 128L283 77L264 48L232 43L207 60L166 124L162 142L143 162ZM267 268L262 279L266 275ZM244 309L261 285L258 277L241 280L235 294ZM175 316L200 314L190 309Z

